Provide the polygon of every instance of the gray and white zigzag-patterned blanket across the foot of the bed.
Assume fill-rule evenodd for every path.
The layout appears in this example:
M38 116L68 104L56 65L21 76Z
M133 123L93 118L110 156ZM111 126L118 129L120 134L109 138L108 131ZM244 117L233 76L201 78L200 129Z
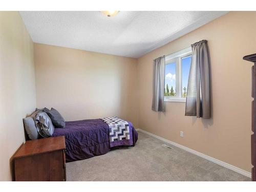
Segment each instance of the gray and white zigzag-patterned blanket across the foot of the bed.
M101 120L109 125L110 147L133 145L132 127L129 122L118 117L106 117Z

